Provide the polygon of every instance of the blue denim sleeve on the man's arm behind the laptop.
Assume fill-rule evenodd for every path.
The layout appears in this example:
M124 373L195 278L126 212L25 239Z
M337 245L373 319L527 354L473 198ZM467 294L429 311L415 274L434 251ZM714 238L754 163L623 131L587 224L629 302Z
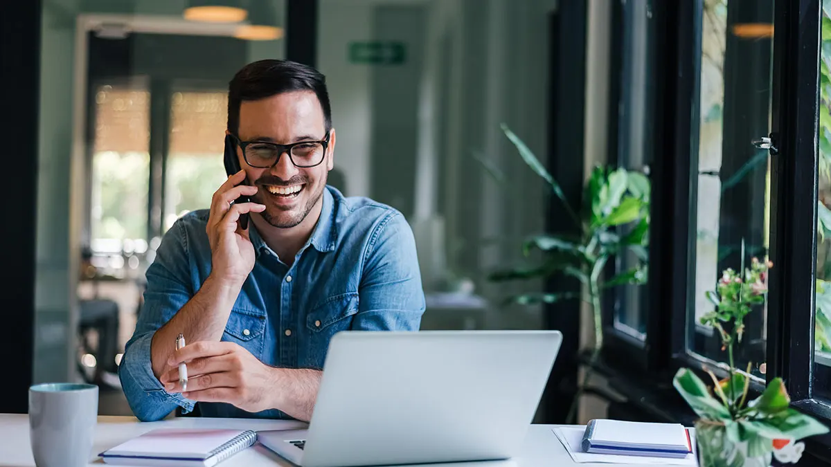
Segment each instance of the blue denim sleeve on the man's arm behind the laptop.
M401 213L376 226L363 255L356 331L418 331L425 311L416 239Z

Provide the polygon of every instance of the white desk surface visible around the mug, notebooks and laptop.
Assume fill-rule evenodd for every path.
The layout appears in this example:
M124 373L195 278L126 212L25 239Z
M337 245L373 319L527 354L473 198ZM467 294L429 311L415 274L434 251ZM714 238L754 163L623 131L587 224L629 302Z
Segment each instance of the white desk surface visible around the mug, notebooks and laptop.
M513 462L470 462L465 467L551 467L553 465L608 466L608 464L573 464L571 456L560 444L551 429L554 425L531 425L521 454ZM304 428L299 422L285 420L245 420L218 418L179 418L141 423L133 417L98 417L94 454L119 445L125 440L141 435L155 428L244 428L248 430L291 430ZM104 464L97 456L91 457L90 465ZM263 445L254 445L248 450L225 460L222 467L292 467L288 461L273 454ZM28 415L0 414L0 467L35 467L29 444ZM420 466L425 467L425 466Z

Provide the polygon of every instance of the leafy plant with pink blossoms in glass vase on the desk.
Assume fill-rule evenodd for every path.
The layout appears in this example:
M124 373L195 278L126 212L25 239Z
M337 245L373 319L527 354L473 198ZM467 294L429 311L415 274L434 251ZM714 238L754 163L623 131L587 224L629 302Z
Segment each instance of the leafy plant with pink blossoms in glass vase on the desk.
M707 297L715 310L701 317L713 327L727 351L730 370L718 381L712 371L712 391L695 373L681 368L673 386L700 417L696 420L696 445L700 465L708 467L767 466L772 456L782 463L795 463L804 450L805 437L828 432L817 420L790 408L790 398L781 378L774 378L762 394L748 401L750 365L738 371L733 346L741 342L744 319L765 302L766 276L770 262L753 258L744 274L725 269L715 291Z

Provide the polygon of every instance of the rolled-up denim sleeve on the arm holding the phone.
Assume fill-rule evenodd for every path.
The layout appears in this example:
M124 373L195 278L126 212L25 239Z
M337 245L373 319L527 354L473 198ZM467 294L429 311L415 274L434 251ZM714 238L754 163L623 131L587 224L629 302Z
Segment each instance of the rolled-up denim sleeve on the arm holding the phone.
M194 409L194 401L165 391L150 365L150 343L156 330L184 307L194 293L189 286L187 238L182 222L179 219L168 230L156 250L155 261L147 268L144 306L118 370L127 402L142 421L160 420L177 406L184 412Z

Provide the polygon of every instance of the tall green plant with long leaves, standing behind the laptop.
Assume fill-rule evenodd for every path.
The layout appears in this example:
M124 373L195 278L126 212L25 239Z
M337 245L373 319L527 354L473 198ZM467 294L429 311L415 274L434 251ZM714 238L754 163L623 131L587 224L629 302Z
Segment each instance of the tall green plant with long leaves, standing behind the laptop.
M594 342L583 381L568 410L566 423L573 423L580 396L592 375L594 364L603 343L602 294L621 284L641 285L647 282L647 248L649 245L650 183L646 175L623 168L594 167L583 189L580 209L568 204L557 180L548 173L529 147L514 132L502 125L502 130L514 144L519 156L535 174L539 175L568 213L577 235L539 234L528 238L522 246L525 257L536 250L539 258L517 268L500 270L489 275L492 281L548 278L562 274L578 279L574 290L558 293L525 293L509 297L506 302L533 305L562 300L579 299L588 303L593 316ZM504 179L497 169L479 160L494 179ZM604 278L607 263L618 255L633 253L632 268L612 278Z

